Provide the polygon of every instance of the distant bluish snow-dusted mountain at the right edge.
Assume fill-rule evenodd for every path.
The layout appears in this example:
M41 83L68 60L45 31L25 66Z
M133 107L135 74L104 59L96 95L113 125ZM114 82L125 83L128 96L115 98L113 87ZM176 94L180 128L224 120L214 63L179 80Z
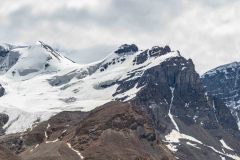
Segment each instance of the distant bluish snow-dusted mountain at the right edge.
M228 106L240 129L240 63L234 62L212 69L201 80L209 94Z

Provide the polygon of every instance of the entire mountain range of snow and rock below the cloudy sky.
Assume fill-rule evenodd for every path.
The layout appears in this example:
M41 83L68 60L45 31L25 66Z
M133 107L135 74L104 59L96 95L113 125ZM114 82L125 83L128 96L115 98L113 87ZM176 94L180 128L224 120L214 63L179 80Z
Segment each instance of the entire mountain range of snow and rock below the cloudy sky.
M200 77L179 51L135 44L87 65L43 42L0 55L0 156L240 159L238 63Z

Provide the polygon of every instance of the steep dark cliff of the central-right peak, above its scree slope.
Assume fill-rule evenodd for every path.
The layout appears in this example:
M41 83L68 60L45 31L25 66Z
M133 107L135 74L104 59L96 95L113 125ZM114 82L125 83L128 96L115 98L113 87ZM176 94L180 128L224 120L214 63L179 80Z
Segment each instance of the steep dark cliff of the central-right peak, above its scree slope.
M208 99L192 61L183 57L172 58L158 67L149 69L139 79L138 84L145 86L145 89L138 94L139 104L149 107L154 105L153 102L159 103L156 102L158 99L164 106L171 104L173 99L172 114L188 125L197 123L205 129L216 129L219 123L226 123L221 121L222 117L218 114L222 110L229 119L232 118L229 110L221 102L217 99ZM163 113L164 108L160 110ZM236 123L232 121L228 127L237 130Z

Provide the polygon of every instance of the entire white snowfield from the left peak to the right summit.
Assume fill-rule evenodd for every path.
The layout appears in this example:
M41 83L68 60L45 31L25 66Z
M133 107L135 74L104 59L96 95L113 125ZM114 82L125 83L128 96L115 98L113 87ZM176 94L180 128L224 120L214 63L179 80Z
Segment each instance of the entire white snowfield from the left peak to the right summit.
M178 52L169 52L148 56L144 63L134 64L134 59L143 51L112 52L101 61L80 65L42 42L14 47L9 53L12 52L20 56L16 63L6 64L0 76L0 84L6 90L0 98L0 112L8 114L11 120L11 124L5 126L7 133L24 131L34 122L47 120L57 112L90 111L116 98L132 99L141 88L134 87L113 96L118 88L115 82L130 78L129 73L135 71L140 75L132 78L137 78L145 70L180 56ZM4 59L4 63L6 61Z

